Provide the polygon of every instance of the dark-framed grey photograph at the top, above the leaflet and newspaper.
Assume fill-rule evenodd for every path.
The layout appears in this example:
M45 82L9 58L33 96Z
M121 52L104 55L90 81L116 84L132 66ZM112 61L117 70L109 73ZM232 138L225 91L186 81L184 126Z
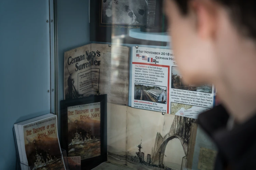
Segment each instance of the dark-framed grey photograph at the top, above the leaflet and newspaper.
M136 45L167 46L167 42L138 39L129 36L131 29L141 29L147 23L145 0L90 1L90 41Z

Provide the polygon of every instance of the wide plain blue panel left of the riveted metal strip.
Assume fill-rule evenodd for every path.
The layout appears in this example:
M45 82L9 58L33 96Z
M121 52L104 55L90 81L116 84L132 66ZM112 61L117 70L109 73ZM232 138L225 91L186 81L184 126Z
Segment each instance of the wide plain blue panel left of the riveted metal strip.
M0 1L0 169L16 166L13 124L50 112L49 2Z

